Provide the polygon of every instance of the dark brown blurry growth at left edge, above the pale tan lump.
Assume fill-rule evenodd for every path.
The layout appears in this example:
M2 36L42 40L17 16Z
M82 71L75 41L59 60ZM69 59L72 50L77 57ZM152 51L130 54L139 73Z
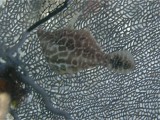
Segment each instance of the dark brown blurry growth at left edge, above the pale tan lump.
M15 109L26 94L25 89L22 87L20 77L12 67L7 67L3 71L0 70L0 94L8 96L7 108ZM3 98L3 97L2 97ZM3 104L3 102L2 102ZM5 107L5 106L4 106Z

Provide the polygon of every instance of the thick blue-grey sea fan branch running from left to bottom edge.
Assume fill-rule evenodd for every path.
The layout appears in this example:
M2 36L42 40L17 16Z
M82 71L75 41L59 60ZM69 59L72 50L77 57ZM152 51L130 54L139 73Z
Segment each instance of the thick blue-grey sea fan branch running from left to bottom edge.
M14 59L12 56L7 56L7 58L9 60L9 65L16 70L15 72L19 77L21 77L22 82L30 85L37 93L39 93L42 96L44 100L44 104L46 105L46 108L49 111L51 111L53 114L63 116L66 120L73 120L70 113L64 110L61 110L59 108L55 108L52 105L52 102L49 96L47 95L47 93L45 92L45 90L43 90L38 84L34 82L32 78L29 77L28 72L25 70L23 63L20 60L17 60L16 58ZM18 71L19 66L21 66L22 68L21 71ZM23 74L21 73L22 71L24 72ZM11 112L13 114L14 111L11 111ZM13 115L16 117L16 114L13 114Z

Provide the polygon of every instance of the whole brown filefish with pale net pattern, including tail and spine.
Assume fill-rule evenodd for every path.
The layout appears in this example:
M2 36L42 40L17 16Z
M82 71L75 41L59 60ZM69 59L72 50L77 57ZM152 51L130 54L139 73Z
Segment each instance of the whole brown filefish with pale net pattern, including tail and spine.
M106 54L89 30L73 29L75 18L69 24L71 27L53 32L37 31L51 69L59 74L72 74L95 66L105 66L118 73L128 73L135 68L133 56L128 51Z

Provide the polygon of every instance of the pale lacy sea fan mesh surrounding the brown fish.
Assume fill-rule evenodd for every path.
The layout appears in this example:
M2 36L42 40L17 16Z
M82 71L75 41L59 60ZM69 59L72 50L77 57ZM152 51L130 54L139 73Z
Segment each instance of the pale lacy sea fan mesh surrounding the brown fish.
M58 3L59 2L59 3ZM0 45L12 49L22 33L54 10L60 0L7 0L0 11ZM106 53L130 51L136 69L127 75L94 67L71 76L50 70L36 31L18 49L28 93L14 110L19 120L160 119L159 0L70 0L63 12L39 28L64 28L81 12L74 28L87 28ZM2 52L1 52L2 53ZM3 59L3 58L1 58ZM3 62L1 60L1 62ZM53 110L54 109L54 110Z

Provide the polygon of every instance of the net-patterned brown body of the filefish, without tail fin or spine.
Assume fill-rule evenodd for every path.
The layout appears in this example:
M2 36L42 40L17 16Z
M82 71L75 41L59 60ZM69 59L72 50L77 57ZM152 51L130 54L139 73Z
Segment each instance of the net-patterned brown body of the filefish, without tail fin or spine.
M104 53L88 30L37 32L42 51L53 70L74 73L104 63Z

